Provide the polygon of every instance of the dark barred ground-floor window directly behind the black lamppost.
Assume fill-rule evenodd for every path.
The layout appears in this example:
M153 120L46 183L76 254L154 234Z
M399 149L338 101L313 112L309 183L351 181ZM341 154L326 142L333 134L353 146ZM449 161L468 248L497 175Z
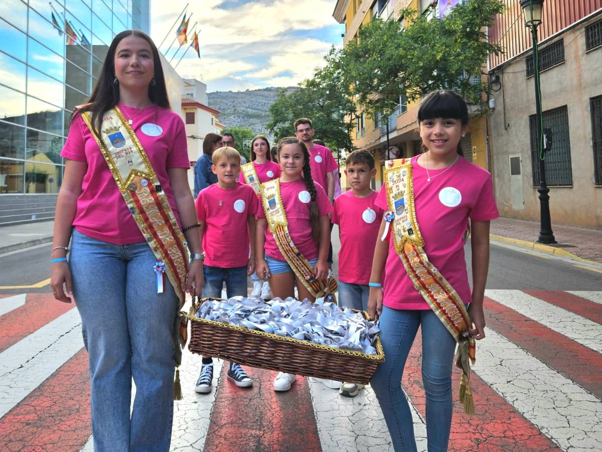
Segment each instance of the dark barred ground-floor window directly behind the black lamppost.
M571 139L568 128L568 110L564 107L544 111L544 128L552 130L552 148L545 152L545 179L548 186L573 185L571 167ZM531 165L533 186L539 186L539 149L536 116L529 116Z

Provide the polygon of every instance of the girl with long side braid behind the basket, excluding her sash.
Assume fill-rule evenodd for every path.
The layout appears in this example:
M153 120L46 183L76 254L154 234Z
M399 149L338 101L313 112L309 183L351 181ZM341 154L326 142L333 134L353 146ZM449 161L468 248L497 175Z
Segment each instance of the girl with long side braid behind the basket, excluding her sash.
M312 180L309 152L302 141L292 137L280 140L278 160L282 170L280 192L291 240L314 266L315 277L326 279L326 258L330 244L328 214L332 212L328 196L320 184ZM307 298L314 301L314 297L296 277L278 249L268 228L262 202L259 202L257 211L256 234L257 274L261 278L268 278L273 296L283 300L294 297L296 283L299 300ZM293 374L279 372L274 380L275 391L288 391L294 379Z

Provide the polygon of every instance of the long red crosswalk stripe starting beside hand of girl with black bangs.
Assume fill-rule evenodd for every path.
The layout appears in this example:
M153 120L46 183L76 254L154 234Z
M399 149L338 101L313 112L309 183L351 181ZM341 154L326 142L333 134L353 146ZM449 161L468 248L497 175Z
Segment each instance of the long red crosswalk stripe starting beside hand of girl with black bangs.
M602 398L600 353L489 298L485 298L485 320L488 327Z

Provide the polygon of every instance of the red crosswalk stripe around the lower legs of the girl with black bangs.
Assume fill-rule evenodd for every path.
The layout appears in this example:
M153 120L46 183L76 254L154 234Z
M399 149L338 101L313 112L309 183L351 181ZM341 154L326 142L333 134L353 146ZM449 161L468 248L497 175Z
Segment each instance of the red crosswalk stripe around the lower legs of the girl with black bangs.
M406 361L402 385L412 404L423 418L426 418L424 387L420 369L422 360L420 334L421 332L418 330ZM478 359L479 345L477 343ZM518 413L474 372L471 374L470 385L473 392L475 414L474 416L465 415L464 407L458 401L460 377L461 372L454 368L452 374L454 413L449 450L560 452L560 449L547 436L539 432L535 425Z

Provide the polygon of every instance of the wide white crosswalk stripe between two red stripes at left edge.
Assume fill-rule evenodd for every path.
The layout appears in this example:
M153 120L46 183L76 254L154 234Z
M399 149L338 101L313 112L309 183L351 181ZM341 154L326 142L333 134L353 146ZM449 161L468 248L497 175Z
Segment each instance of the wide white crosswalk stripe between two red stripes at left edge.
M0 353L0 417L82 348L72 309Z

